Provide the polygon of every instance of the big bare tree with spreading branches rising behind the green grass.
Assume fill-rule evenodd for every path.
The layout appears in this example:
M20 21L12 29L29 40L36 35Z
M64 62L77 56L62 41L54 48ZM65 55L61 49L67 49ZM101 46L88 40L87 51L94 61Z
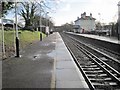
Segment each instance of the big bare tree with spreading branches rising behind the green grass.
M19 15L25 20L24 29L32 29L34 27L35 16L40 15L40 13L45 13L45 11L53 12L52 6L55 6L55 1L34 0L34 2L21 2L22 8ZM41 4L41 7L40 7ZM49 20L48 20L49 21Z

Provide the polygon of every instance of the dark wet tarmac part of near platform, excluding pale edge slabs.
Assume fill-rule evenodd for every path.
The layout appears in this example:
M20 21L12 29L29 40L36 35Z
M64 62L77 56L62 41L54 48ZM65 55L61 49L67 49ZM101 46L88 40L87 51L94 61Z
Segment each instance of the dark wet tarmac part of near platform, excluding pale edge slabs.
M9 58L2 63L3 88L50 88L53 72L56 36L50 35L21 52L21 58Z

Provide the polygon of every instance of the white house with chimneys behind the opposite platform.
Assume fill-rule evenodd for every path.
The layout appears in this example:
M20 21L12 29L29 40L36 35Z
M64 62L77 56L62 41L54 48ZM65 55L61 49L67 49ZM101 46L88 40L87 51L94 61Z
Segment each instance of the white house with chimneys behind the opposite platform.
M86 16L86 12L81 14L81 18L77 18L75 20L75 25L79 25L81 28L79 29L80 32L89 32L95 30L95 18L92 17L92 14L90 13L90 16Z

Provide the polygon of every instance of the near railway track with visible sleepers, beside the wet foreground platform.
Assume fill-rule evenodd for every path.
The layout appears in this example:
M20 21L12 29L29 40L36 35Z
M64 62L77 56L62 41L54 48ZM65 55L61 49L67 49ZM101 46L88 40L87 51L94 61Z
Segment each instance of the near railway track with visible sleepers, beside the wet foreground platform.
M66 34L62 33L61 36L91 90L120 90L120 73L107 63L107 56L103 60L102 53L95 54L97 51L94 48Z

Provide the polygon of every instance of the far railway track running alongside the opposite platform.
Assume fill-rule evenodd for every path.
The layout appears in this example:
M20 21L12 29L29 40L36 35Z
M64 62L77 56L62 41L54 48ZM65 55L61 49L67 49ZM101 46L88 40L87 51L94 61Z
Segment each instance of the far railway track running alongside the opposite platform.
M104 62L109 64L111 67L116 69L118 72L120 72L120 69L119 69L120 68L120 56L119 55L116 55L116 53L113 53L111 55L111 52L105 51L104 49L101 49L101 48L97 48L96 46L93 46L88 43L86 44L83 41L80 41L70 35L69 35L69 38L73 39L74 41L77 41L77 43L81 44L84 48L87 48L87 50L94 53L96 56L101 58Z

